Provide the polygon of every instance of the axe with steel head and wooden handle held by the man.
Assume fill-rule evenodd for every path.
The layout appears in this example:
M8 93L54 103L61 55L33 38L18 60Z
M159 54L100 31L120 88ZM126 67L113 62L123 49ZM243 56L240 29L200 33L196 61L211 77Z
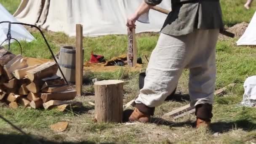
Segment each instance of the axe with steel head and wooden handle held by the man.
M164 8L160 8L158 6L153 6L151 7L151 9L158 11L160 13L164 13L164 14L168 14L170 13L170 11L164 9ZM141 15L138 19L139 22L141 23L149 23L149 12L144 13L143 15ZM231 32L227 32L226 30L222 30L219 33L221 33L222 35L226 35L227 37L235 37L235 34L231 33Z

